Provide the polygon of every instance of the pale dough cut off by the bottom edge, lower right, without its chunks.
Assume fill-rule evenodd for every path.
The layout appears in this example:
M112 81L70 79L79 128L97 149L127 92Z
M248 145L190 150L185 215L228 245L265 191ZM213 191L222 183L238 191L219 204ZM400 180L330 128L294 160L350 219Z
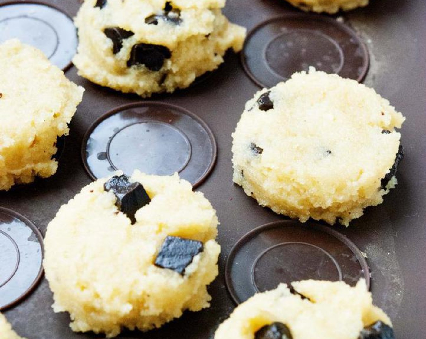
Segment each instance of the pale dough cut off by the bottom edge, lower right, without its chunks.
M293 339L357 339L361 330L389 317L372 304L364 280L350 287L344 282L305 280L292 283L307 297L292 294L286 284L258 293L240 304L216 330L214 339L253 339L263 326L286 325Z

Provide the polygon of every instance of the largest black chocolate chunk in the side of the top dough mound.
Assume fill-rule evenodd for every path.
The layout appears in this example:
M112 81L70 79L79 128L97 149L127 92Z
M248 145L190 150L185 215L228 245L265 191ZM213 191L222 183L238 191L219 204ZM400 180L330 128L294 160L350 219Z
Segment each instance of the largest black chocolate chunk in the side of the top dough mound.
M145 65L147 69L159 71L164 65L165 59L170 59L172 53L170 49L161 45L152 45L149 43L138 43L132 47L130 59L127 61L127 67L132 65Z

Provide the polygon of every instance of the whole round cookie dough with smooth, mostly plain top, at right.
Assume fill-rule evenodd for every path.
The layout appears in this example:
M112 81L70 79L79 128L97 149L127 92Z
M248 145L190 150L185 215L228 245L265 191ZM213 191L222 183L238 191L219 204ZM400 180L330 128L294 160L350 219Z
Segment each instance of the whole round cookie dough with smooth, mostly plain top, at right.
M404 120L357 81L295 73L247 102L233 133L233 180L276 213L348 226L396 185Z

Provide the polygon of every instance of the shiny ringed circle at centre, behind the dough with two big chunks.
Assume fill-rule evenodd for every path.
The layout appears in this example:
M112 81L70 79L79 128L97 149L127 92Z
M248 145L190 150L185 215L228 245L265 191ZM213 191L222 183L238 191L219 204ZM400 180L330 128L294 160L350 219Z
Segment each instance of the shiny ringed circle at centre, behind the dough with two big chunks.
M216 141L195 114L171 104L141 102L101 116L83 139L81 156L92 179L121 170L147 174L179 173L199 185L216 162Z

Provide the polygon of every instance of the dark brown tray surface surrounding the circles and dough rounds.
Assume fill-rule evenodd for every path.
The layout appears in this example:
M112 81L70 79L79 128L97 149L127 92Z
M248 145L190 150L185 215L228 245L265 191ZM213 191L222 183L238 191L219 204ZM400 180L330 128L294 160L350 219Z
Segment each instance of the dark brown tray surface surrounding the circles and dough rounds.
M0 5L4 4L6 1L0 1ZM81 2L46 0L46 4L55 6L72 17ZM246 26L249 30L264 26L277 16L305 16L280 0L227 0L224 13L230 21ZM361 267L358 272L360 276L366 276L368 272L356 248L366 254L374 302L391 317L396 338L426 337L423 325L426 316L426 295L423 293L426 283L426 6L422 0L371 0L371 4L363 9L334 16L312 14L311 17L320 17L319 20L330 22L331 26L334 26L332 20L337 20L337 26L341 27L343 23L344 27L351 27L356 32L355 40L366 45L369 55L369 69L364 83L374 87L407 117L401 130L406 156L398 170L397 188L385 196L383 204L366 209L363 217L352 221L347 229L339 225L330 227L321 224L314 228L328 229L331 233L337 232L336 234L346 237L341 239L348 239L354 260L358 261ZM358 80L366 70L366 55L363 55L361 57L364 60L364 68L359 69L360 72L355 77ZM43 234L59 207L91 181L81 159L83 139L89 127L107 112L116 110L121 105L141 101L138 96L122 94L90 83L77 75L75 67L70 68L66 76L85 87L86 92L70 125L70 135L66 138L58 172L48 179L36 180L30 185L15 186L8 192L0 193L0 206L25 215ZM258 226L275 221L283 224L295 223L260 207L255 200L247 197L240 187L232 183L231 133L245 102L259 89L245 73L239 55L229 53L225 63L204 77L203 81L196 82L186 90L178 90L171 95L154 95L150 99L159 104L176 105L185 112L195 114L206 123L206 130L210 128L213 132L213 143L216 139L216 165L199 190L213 204L221 222L218 236L222 246L219 276L209 287L213 296L210 308L197 313L185 312L181 318L147 333L125 330L118 338L212 338L219 323L226 319L235 307L225 284L225 264L230 255L229 262L232 263L232 256L235 255L234 251L231 253L233 246ZM212 162L210 166L211 164ZM311 242L284 240L293 243ZM333 249L326 247L329 245L329 240L324 240L324 243L304 246L314 252L327 252L334 258ZM273 246L275 245L269 245L268 248ZM293 245L289 246L288 249ZM299 245L296 244L297 246ZM273 247L273 250L276 248L279 246ZM0 253L4 249L6 245L0 248ZM262 256L262 251L259 253L254 262L262 264L266 257ZM324 258L330 258L327 254L324 255ZM295 258L300 259L297 255ZM330 258L330 261L333 260ZM327 260L325 263L327 264ZM262 269L267 266L264 265ZM336 270L335 264L330 267ZM256 269L256 265L254 268ZM295 270L296 275L300 272L302 270ZM227 275L228 284L232 285L232 274ZM246 283L250 284L250 281ZM264 285L270 287L270 283L274 282L257 282L260 289ZM52 302L48 284L42 279L29 296L19 304L9 307L5 315L12 322L14 329L29 339L103 337L93 333L73 333L68 326L69 315L54 313Z

